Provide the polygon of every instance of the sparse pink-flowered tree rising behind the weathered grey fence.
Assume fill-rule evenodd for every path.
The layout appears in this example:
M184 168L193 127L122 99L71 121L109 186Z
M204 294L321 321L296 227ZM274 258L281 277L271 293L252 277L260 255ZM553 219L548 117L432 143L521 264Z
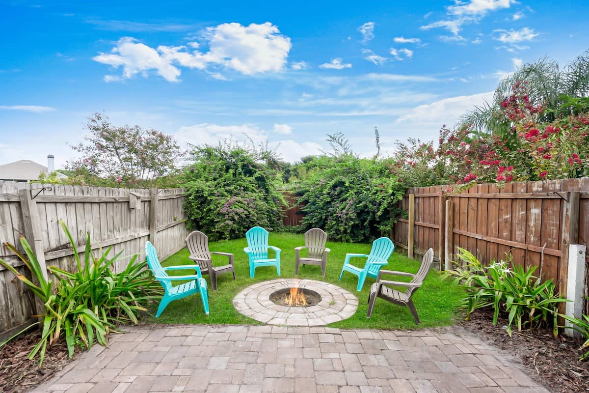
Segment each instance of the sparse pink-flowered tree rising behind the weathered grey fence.
M71 146L81 154L68 163L74 178L121 187L171 185L182 155L173 137L152 128L113 126L101 113L89 117L85 128L84 142Z

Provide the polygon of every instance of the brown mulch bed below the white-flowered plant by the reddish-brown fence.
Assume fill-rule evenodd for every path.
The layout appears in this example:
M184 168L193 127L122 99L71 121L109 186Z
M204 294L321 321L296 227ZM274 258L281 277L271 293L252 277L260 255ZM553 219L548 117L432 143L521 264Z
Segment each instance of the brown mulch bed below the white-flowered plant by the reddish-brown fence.
M497 326L492 325L492 319L492 311L477 310L470 321L458 323L456 329L465 329L521 359L528 375L551 392L589 392L589 360L579 361L585 352L580 349L584 340L564 335L555 339L552 329L547 328L516 329L509 337L503 328L507 319L499 318Z

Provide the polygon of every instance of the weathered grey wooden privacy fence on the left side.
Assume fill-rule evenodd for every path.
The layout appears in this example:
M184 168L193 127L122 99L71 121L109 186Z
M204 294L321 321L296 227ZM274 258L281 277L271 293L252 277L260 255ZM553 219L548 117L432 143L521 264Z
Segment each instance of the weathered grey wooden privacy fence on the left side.
M111 189L0 181L0 242L19 245L27 237L39 262L64 270L74 267L70 243L58 220L63 220L83 251L85 234L92 247L112 247L112 256L124 251L120 271L135 253L145 257L151 240L161 258L184 247L187 236L183 211L184 189ZM22 262L8 249L0 257L25 272ZM18 327L35 312L29 291L11 281L14 275L0 266L0 332Z

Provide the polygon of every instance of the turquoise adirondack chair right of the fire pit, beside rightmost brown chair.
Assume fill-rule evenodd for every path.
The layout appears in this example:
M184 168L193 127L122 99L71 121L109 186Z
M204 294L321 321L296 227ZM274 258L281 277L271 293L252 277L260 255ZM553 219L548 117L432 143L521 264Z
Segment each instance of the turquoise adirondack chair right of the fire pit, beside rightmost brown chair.
M342 273L339 275L340 281L343 277L343 272L350 272L353 275L358 276L358 288L356 290L362 290L362 286L366 281L366 277L376 278L380 267L387 265L389 256L395 250L395 245L388 237L380 237L372 243L372 250L370 254L346 254L346 260L343 262ZM366 263L364 267L356 267L350 264L350 258L352 257L365 257Z

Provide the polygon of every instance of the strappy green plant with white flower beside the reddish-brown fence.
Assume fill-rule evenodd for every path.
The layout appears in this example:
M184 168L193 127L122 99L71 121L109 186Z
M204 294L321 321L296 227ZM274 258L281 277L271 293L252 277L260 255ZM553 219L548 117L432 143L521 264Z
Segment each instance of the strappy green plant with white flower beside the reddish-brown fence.
M540 323L554 323L558 313L555 303L564 302L555 293L552 279L541 282L534 276L537 266L524 268L521 265L509 267L511 260L495 262L482 266L481 262L465 249L458 247L458 258L465 263L456 270L446 272L454 277L455 283L463 285L468 296L464 299L466 319L475 309L492 306L493 324L497 325L499 313L507 315L507 332L511 336L512 325L518 331L527 325L533 329ZM557 324L552 325L557 335Z

